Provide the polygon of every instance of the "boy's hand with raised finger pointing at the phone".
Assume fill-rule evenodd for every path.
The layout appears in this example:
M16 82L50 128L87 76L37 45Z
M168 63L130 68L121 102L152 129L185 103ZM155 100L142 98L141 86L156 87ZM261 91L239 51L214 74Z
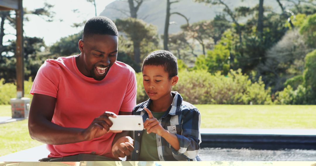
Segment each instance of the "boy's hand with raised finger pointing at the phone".
M154 118L153 114L151 113L151 111L144 107L144 110L148 113L148 117L149 119L147 119L144 122L144 129L147 130L147 134L153 132L158 134L159 136L162 136L164 133L166 133L167 130L165 130L161 124L159 123L159 121Z

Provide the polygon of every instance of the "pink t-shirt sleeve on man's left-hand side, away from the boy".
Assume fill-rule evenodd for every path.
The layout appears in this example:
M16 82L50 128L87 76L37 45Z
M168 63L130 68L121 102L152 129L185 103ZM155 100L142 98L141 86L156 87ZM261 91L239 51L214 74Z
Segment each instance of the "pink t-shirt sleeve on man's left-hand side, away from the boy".
M36 74L30 93L32 95L38 93L56 98L60 82L59 71L58 65L46 60Z

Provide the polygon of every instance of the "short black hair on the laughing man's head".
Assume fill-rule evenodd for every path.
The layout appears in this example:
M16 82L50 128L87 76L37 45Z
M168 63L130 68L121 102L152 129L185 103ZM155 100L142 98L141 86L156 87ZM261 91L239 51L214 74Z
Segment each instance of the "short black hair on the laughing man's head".
M111 19L97 16L89 19L84 25L82 40L95 34L118 36L119 32Z

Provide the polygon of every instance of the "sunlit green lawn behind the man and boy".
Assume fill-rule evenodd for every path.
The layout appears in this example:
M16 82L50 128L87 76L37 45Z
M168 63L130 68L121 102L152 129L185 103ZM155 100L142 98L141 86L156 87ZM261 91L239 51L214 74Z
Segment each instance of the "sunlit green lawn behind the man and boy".
M315 129L316 105L196 105L201 128ZM11 116L0 105L0 116ZM28 134L27 119L0 124L0 156L42 145Z

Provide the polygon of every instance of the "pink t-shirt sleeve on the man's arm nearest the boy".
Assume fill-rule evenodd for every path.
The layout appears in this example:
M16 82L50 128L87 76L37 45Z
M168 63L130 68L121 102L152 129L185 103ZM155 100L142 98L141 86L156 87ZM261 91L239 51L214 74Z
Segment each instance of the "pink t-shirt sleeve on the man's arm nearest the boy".
M133 108L136 106L136 92L137 92L137 83L135 71L132 70L130 77L128 79L128 85L125 92L125 97L123 99L120 111L123 112L132 112Z

